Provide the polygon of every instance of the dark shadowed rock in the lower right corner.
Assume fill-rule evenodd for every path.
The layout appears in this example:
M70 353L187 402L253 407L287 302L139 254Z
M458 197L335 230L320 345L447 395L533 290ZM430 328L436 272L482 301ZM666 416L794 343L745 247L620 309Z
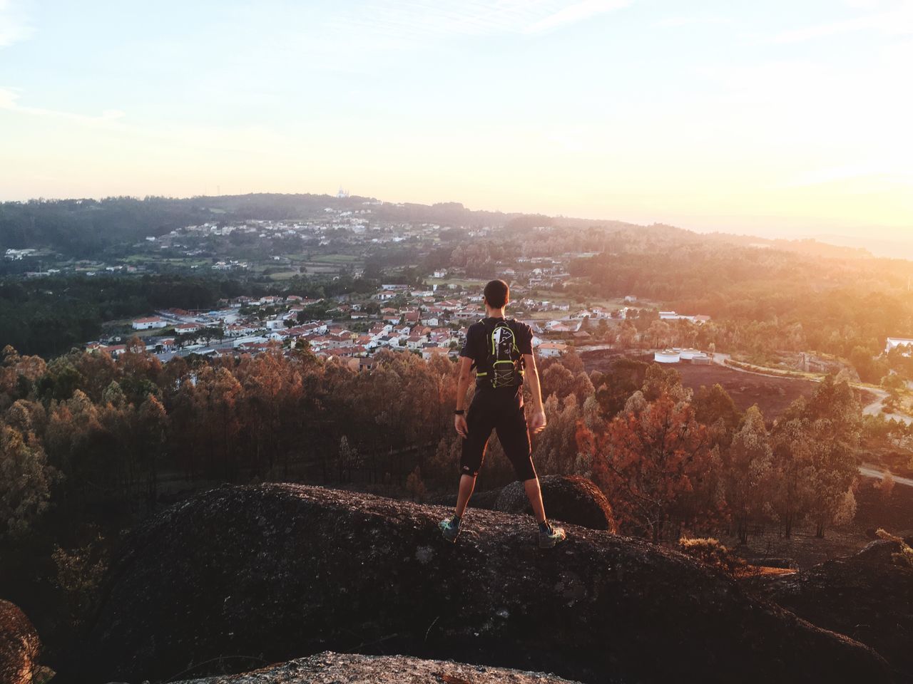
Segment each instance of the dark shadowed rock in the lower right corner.
M894 562L898 550L879 540L794 575L759 578L753 588L819 627L875 648L913 681L913 568Z

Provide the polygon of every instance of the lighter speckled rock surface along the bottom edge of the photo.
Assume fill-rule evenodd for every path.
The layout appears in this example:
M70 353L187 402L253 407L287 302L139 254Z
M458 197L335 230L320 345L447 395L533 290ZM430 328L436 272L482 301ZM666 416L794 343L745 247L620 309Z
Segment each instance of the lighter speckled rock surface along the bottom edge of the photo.
M359 656L325 651L241 675L173 684L573 684L542 672L487 668L407 656Z

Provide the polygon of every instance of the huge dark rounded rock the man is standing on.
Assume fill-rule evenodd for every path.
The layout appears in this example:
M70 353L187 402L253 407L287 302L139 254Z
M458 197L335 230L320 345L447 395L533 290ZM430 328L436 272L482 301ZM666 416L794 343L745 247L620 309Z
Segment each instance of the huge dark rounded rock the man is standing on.
M446 512L290 484L197 494L110 565L82 680L327 649L585 682L892 679L872 649L684 555L576 526L540 551L529 518L488 511L447 544Z

